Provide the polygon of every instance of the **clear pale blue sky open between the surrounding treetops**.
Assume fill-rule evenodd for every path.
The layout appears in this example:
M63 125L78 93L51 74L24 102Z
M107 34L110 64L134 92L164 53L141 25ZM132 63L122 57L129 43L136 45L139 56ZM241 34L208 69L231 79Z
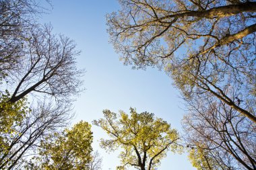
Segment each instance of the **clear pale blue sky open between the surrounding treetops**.
M179 92L172 87L172 81L158 69L132 70L119 61L118 54L108 43L106 13L117 11L117 0L53 0L53 10L42 15L42 22L53 25L54 32L65 34L82 50L77 57L79 68L85 68L83 77L86 91L75 102L76 117L73 123L102 118L102 110L113 112L137 108L163 118L181 132L181 119L185 111ZM94 150L103 157L103 170L114 170L119 165L118 152L106 153L98 146L106 134L96 126ZM168 154L158 169L194 169L186 155Z

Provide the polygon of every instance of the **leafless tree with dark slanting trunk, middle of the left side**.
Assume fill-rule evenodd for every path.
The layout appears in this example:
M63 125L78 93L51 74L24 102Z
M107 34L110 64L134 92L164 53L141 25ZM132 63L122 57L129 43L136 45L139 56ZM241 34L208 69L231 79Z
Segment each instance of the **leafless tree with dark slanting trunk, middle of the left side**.
M19 71L9 71L11 98L14 103L28 93L44 93L62 99L70 99L82 90L79 79L84 71L75 66L75 49L73 40L52 34L52 27L46 25L31 31L30 40L24 44L23 60Z

